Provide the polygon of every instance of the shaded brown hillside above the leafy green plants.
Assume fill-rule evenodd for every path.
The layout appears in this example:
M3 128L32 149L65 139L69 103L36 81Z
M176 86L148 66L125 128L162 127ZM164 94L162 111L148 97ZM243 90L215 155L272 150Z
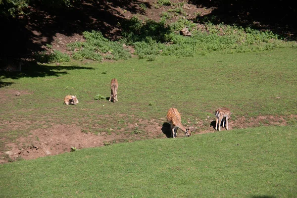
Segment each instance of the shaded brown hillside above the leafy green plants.
M169 2L169 3L168 3ZM186 18L194 21L198 30L204 24L239 25L271 30L287 40L296 39L296 8L290 1L222 0L82 0L72 7L53 9L32 5L26 15L1 19L6 27L0 38L0 57L30 58L47 45L65 51L66 44L84 41L84 31L100 31L111 40L122 36L122 24L133 16L142 20L159 21L168 14L168 24Z

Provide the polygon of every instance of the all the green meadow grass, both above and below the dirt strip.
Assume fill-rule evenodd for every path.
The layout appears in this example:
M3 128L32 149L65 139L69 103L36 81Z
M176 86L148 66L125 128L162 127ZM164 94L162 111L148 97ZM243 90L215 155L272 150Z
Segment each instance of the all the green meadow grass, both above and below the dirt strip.
M98 135L129 134L134 129L127 123L141 119L162 126L170 107L180 111L183 124L197 130L190 138L179 130L177 139L1 164L0 197L296 197L297 119L291 116L297 115L296 57L297 49L284 48L157 56L154 61L32 64L22 73L5 73L1 151L31 130L56 124L74 124ZM112 78L119 82L115 103L108 101ZM14 96L15 91L21 95ZM76 95L78 105L63 104L66 95ZM201 134L211 129L214 110L222 106L233 112L232 130ZM282 116L287 126L236 126L243 116ZM11 127L13 122L21 124ZM139 125L139 136L146 139L144 128Z

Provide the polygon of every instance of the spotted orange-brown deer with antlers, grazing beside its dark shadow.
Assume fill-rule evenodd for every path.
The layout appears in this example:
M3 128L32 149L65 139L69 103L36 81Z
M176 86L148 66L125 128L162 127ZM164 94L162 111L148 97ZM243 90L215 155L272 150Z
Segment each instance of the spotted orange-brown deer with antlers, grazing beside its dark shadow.
M176 132L177 132L178 128L181 129L183 132L185 132L185 135L187 137L191 136L191 132L195 131L194 127L191 127L190 129L186 129L182 125L181 115L176 108L170 108L168 110L166 119L169 122L169 124L171 125L171 137L173 137L173 138L176 137Z

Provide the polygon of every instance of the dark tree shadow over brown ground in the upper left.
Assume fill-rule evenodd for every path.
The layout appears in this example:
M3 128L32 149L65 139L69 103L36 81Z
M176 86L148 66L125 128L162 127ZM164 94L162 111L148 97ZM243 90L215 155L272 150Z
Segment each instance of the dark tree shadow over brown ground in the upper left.
M84 31L98 30L109 38L121 36L120 24L125 20L124 12L144 14L141 0L78 0L71 7L53 9L35 1L23 15L16 18L0 16L0 57L28 58L33 52L43 51L57 34L73 36ZM151 5L145 3L149 8ZM9 28L8 28L9 27ZM75 40L73 39L73 42ZM59 41L61 45L63 41Z

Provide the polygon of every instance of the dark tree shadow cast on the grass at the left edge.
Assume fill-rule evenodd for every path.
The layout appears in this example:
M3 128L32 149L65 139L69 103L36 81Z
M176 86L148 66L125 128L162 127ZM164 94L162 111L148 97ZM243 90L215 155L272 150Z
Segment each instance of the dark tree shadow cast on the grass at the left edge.
M60 76L67 74L67 71L61 70L76 70L76 69L94 69L92 67L81 66L48 66L38 64L35 61L23 61L21 71L1 71L2 80L5 78L19 79L23 77L46 77L46 76ZM8 66L8 65L7 65ZM4 66L5 67L5 66ZM5 86L5 82L1 82Z

